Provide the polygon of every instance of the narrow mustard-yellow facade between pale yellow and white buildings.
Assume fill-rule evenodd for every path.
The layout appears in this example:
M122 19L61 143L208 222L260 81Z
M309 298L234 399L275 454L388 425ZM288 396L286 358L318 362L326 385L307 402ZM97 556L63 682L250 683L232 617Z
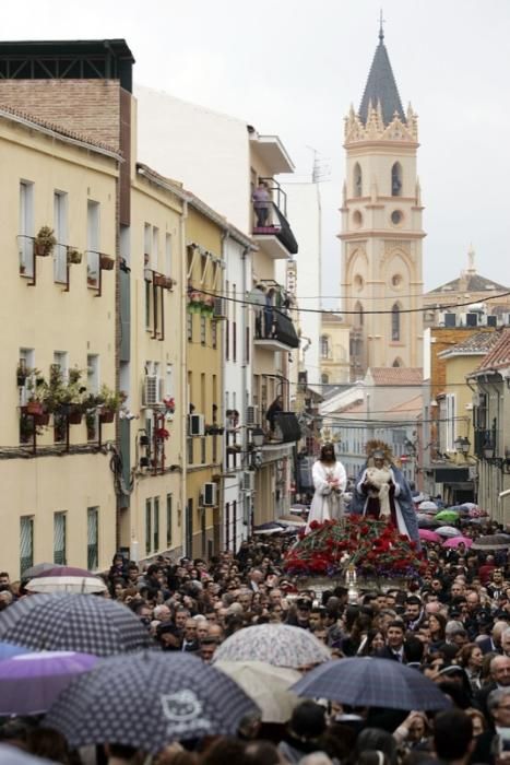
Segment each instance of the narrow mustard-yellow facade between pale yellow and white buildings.
M186 222L186 449L185 550L210 556L221 545L223 459L223 323L214 293L223 292L222 246L226 222L194 197Z

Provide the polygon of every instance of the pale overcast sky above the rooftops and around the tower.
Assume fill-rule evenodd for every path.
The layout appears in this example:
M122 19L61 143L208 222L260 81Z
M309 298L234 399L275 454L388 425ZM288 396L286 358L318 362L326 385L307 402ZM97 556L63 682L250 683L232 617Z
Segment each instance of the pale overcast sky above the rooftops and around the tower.
M343 118L378 44L380 0L25 0L2 39L124 37L135 80L278 134L321 184L324 295L340 281ZM477 270L510 285L510 1L386 0L386 45L404 109L419 117L426 289ZM143 157L140 157L143 160Z

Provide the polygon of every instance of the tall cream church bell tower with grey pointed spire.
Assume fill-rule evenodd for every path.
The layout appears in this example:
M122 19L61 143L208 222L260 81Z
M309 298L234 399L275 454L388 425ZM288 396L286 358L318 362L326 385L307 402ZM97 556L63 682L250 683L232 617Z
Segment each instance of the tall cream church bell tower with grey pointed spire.
M416 114L404 113L382 23L359 110L345 119L341 294L352 378L423 365L422 196Z

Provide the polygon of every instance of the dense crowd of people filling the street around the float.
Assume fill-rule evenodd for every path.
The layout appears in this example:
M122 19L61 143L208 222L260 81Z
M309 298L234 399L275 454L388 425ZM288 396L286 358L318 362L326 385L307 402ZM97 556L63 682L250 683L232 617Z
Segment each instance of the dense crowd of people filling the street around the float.
M477 536L500 530L478 522ZM211 561L162 556L141 567L116 555L105 581L107 597L131 609L164 651L194 654L203 662L230 635L268 623L312 633L333 658L376 657L406 663L451 699L436 715L419 709L353 708L305 701L287 725L251 721L238 738L220 738L191 751L173 744L159 765L239 763L495 763L510 758L510 560L507 550L472 551L427 543L425 575L406 587L346 587L317 591L286 576L287 534L253 537L236 552ZM0 574L0 609L23 597L19 582ZM1 692L1 688L0 688ZM126 704L129 704L127 688ZM81 762L58 745L44 719L4 720L0 740L62 763ZM57 743L56 743L57 742ZM510 744L508 744L510 746ZM61 746L61 749L59 749ZM109 760L100 757L109 756ZM96 762L144 762L126 748ZM82 761L85 762L85 761Z

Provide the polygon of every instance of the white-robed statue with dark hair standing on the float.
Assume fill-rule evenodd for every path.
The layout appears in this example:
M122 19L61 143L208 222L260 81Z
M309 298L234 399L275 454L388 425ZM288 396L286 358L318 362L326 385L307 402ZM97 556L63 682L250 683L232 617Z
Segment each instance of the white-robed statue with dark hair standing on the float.
M336 459L333 444L323 445L319 459L313 463L311 476L316 493L305 533L310 531L313 520L322 523L324 520L341 520L343 516L342 494L347 485L347 474L342 462Z

